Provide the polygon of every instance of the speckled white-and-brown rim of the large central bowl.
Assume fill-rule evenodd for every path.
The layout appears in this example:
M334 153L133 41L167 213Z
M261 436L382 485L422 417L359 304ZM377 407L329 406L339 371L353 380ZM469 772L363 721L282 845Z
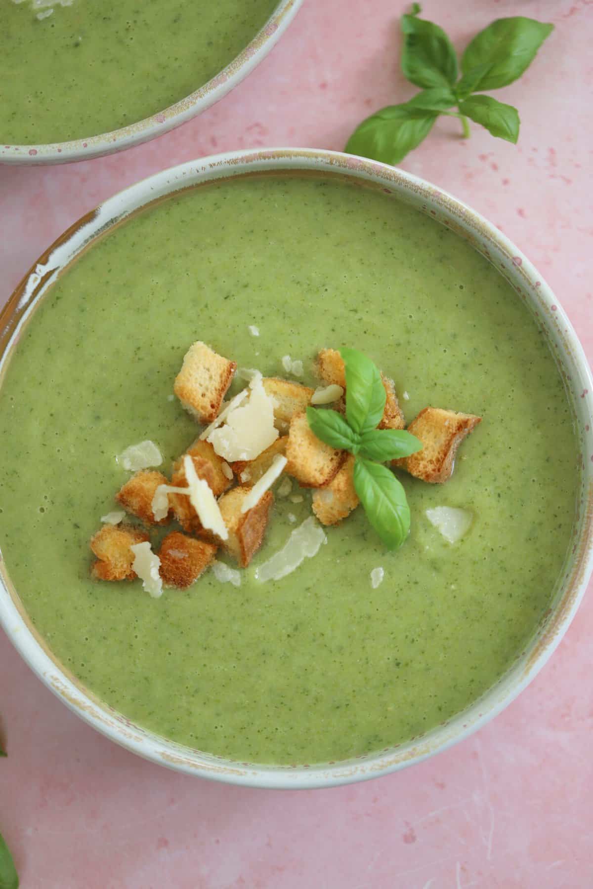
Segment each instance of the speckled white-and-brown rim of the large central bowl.
M532 641L488 693L419 738L342 762L265 766L234 762L168 741L134 725L96 699L56 661L38 636L0 561L0 623L28 665L68 707L127 749L180 772L266 788L331 787L364 781L412 765L467 737L504 709L533 679L565 634L593 568L593 381L581 345L554 294L531 263L501 232L461 201L385 164L337 152L276 148L203 158L165 170L127 188L78 220L36 262L0 316L0 384L23 324L64 268L109 228L165 196L208 181L263 172L317 173L380 188L453 229L505 276L545 333L565 381L581 461L573 540L548 612ZM387 199L387 198L386 198Z

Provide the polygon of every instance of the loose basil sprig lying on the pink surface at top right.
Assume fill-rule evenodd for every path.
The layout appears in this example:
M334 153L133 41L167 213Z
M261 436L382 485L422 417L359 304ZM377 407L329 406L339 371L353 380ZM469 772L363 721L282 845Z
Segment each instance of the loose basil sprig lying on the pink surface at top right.
M457 56L451 41L443 28L419 19L420 12L420 4L414 3L412 12L402 16L401 66L407 79L421 86L422 92L367 117L352 133L344 150L386 164L399 164L428 136L440 114L461 118L466 139L470 118L493 136L516 143L517 108L474 93L497 90L517 80L554 26L525 16L493 21L466 47L458 80Z

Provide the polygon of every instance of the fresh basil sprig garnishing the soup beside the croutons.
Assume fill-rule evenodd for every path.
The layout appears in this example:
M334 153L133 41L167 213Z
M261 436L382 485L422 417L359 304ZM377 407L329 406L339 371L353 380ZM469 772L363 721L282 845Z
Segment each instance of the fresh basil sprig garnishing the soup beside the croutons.
M410 531L410 508L401 482L385 461L420 451L421 441L405 429L378 429L386 393L381 373L370 358L342 348L346 369L346 416L325 408L307 408L309 427L326 445L355 454L354 487L374 530L389 549L397 549Z

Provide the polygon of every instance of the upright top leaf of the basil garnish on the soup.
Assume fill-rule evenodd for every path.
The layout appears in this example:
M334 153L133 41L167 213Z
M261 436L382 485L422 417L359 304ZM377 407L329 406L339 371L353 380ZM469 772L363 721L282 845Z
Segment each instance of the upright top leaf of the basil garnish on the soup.
M387 395L381 373L356 348L341 348L346 368L346 419L355 432L373 429L381 421Z

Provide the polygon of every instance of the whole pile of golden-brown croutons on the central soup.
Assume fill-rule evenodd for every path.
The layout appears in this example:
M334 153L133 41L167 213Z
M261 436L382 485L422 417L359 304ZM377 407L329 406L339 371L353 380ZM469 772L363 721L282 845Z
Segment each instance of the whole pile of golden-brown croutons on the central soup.
M224 396L236 372L236 363L217 355L203 342L196 342L185 356L173 391L180 403L196 420L212 424L224 409ZM124 581L136 577L131 546L150 540L150 526L167 525L175 520L179 530L164 537L158 551L159 573L165 587L186 589L212 565L222 549L237 565L245 568L260 549L274 504L274 494L267 490L260 499L242 512L248 493L272 466L279 455L286 459L284 472L303 488L312 489L312 509L323 525L336 525L357 508L358 498L353 483L354 458L345 451L326 445L309 428L306 408L319 404L314 395L333 392L335 400L327 404L334 410L345 409L346 377L344 362L338 351L322 349L317 356L317 377L322 386L317 390L299 382L277 377L263 378L268 396L273 398L276 441L251 461L228 464L214 447L198 437L186 454L173 464L171 481L156 469L136 472L116 494L116 501L138 525L103 525L91 540L97 560L92 575L102 581ZM381 374L386 402L379 428L405 428L404 414L397 402L393 380ZM426 407L407 427L422 442L422 450L403 460L393 461L425 482L443 483L453 472L453 461L461 441L476 427L480 418L472 414ZM196 475L209 485L218 501L220 513L228 529L228 540L222 541L202 526L188 496L168 493L169 511L156 520L153 499L160 485L185 488L188 483L184 457L188 455Z

